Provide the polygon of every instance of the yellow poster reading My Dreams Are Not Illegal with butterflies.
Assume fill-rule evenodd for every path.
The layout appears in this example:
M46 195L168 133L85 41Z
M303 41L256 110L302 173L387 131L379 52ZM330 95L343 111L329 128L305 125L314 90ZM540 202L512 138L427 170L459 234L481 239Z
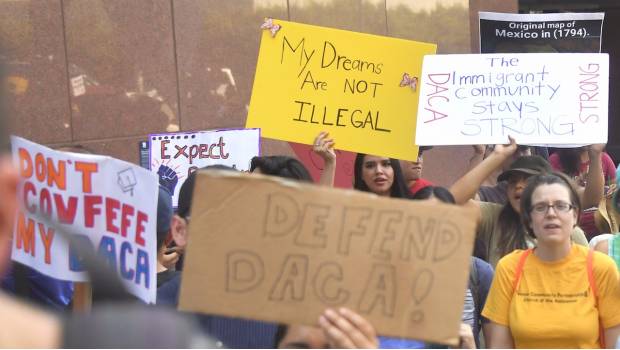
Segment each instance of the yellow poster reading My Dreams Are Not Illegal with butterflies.
M436 45L274 21L263 31L246 127L311 144L415 160L422 57Z

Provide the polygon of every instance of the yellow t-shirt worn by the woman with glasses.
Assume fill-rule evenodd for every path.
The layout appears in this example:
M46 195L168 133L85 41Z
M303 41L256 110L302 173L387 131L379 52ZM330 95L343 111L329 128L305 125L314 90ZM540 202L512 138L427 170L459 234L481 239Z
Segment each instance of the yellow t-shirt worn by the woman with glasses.
M573 244L568 256L554 262L530 254L513 293L523 252L515 250L497 264L482 315L507 326L516 348L600 348L599 316L604 328L620 324L620 283L613 260L599 252L593 256L597 310L588 282L588 248Z

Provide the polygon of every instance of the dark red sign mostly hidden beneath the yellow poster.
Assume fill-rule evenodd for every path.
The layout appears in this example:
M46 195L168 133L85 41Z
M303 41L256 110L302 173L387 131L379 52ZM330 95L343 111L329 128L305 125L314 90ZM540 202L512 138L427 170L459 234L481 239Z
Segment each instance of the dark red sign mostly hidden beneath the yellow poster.
M323 172L323 159L312 150L312 146L301 143L289 142L300 162L304 164L315 182L321 179ZM334 176L334 187L351 188L353 187L353 171L355 166L355 153L336 150L336 174Z

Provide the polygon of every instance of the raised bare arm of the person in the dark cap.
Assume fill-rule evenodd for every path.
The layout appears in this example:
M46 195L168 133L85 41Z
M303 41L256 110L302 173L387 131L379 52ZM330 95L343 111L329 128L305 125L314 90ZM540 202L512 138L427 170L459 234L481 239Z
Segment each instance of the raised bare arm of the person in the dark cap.
M495 146L490 156L458 179L458 181L450 187L450 192L454 196L456 204L465 204L468 200L474 198L474 195L478 192L484 180L517 150L515 140L510 136L508 139L510 140L509 145Z

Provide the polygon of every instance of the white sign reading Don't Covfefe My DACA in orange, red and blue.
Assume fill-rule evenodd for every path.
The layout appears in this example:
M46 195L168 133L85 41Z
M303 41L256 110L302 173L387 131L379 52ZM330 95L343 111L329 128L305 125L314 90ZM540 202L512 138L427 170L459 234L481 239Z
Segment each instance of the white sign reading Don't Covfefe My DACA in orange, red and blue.
M58 152L19 137L11 144L24 202L12 259L57 279L87 281L77 251L48 227L51 221L90 242L132 294L154 303L157 176L110 157Z

